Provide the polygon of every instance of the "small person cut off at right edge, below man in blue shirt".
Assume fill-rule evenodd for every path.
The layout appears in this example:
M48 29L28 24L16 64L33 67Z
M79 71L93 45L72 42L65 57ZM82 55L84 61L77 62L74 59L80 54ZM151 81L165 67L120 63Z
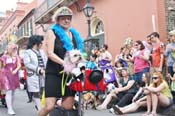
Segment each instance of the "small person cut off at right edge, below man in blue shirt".
M173 77L170 74L168 74L168 77L171 79L171 93L173 95L173 102L175 103L175 63L173 64L173 72Z

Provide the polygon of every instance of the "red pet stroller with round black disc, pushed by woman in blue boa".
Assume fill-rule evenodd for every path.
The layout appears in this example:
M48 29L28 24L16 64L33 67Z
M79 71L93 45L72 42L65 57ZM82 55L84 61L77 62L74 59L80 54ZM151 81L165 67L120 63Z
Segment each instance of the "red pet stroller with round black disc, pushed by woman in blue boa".
M74 81L71 83L70 88L78 92L78 109L65 110L63 108L55 108L49 116L83 116L83 91L105 91L106 84L104 83L103 72L100 70L85 70L83 76L84 80Z

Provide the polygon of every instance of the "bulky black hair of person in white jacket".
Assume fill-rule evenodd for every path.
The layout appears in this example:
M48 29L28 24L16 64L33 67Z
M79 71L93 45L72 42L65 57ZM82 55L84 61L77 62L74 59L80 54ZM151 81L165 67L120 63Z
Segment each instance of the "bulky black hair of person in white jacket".
M39 45L43 41L43 36L41 35L32 35L29 38L27 49L33 48L34 45Z

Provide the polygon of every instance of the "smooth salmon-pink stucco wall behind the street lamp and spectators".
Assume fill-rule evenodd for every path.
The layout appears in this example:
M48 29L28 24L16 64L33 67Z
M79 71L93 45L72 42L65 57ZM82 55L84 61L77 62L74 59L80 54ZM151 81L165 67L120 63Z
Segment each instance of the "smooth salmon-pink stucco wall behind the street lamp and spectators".
M163 9L159 8L163 8L163 0L157 1L91 0L95 7L93 17L100 17L104 23L105 43L109 45L109 51L113 57L119 52L126 37L144 40L148 34L154 31L153 15L155 16L155 31L160 32L163 38L165 37L165 24L162 23L165 21L162 17L165 16L163 13L158 13L158 11L163 12ZM74 9L74 6L72 8ZM158 16L161 19L158 20ZM158 21L161 22L158 23ZM84 38L87 36L87 24L83 12L74 12L73 26L80 31Z

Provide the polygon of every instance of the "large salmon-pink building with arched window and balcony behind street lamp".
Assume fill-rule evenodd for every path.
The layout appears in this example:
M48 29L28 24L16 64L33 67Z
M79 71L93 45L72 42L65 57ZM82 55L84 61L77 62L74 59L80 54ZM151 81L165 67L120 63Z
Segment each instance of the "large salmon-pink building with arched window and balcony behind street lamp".
M72 26L87 38L87 19L82 12L86 0L38 0L35 23L51 25L51 17L60 6L66 5L74 12ZM144 40L148 34L157 31L166 41L166 18L164 0L91 0L95 7L91 17L91 42L87 48L101 47L106 43L113 56L119 52L125 38ZM81 26L80 26L81 25ZM38 33L44 33L41 28Z

